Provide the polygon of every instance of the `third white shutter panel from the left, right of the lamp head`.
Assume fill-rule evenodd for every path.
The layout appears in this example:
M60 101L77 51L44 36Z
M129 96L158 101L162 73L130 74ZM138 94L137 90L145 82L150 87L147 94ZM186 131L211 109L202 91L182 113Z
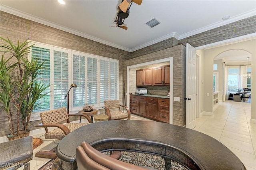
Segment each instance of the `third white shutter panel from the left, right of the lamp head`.
M73 90L73 107L85 105L85 56L73 54L73 83L77 88Z

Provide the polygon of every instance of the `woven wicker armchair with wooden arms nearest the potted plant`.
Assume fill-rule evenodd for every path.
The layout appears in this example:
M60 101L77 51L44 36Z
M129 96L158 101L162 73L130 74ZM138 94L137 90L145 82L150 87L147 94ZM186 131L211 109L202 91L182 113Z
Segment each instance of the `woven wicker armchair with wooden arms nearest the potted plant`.
M68 116L83 116L88 120L89 123L92 123L92 120L88 115L83 113L68 114L66 108L62 107L60 109L55 109L55 110L45 111L40 113L42 123L39 125L36 125L36 127L44 127L46 131L46 133L44 134L44 137L46 139L61 140L73 130L89 124L89 123L70 123ZM63 121L67 121L67 123L65 125L61 124L61 122ZM49 131L48 127L56 127L56 128L54 130ZM36 157L55 159L56 158L55 149L50 151L37 152Z

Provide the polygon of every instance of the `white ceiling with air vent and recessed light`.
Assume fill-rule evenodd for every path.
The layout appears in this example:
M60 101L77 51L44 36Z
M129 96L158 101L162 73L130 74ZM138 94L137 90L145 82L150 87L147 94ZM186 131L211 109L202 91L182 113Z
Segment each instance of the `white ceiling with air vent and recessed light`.
M65 0L64 0L65 1ZM2 11L126 51L178 40L256 15L255 0L143 0L130 8L124 30L115 26L121 0L1 0ZM224 16L230 19L222 21ZM154 28L145 25L156 18ZM247 60L247 58L246 58Z

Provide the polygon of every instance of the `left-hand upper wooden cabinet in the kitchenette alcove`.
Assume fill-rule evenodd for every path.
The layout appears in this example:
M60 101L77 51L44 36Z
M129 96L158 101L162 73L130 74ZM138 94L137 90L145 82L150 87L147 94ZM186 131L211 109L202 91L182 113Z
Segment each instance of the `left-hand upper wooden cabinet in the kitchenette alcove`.
M136 85L148 86L152 85L152 69L136 70Z

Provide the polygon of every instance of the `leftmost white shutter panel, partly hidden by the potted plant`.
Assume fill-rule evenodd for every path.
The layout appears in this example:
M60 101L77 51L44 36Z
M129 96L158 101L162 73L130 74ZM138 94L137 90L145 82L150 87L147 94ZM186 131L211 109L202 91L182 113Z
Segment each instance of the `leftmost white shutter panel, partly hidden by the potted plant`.
M40 76L43 79L44 85L50 85L50 47L41 48L37 47L39 45L35 45L32 47L32 58L37 59L38 63L44 63L42 66L44 69L40 69L42 73ZM44 90L44 93L50 92L50 87ZM42 99L36 101L36 104L39 104L34 112L39 111L48 111L50 110L50 93L44 96Z

